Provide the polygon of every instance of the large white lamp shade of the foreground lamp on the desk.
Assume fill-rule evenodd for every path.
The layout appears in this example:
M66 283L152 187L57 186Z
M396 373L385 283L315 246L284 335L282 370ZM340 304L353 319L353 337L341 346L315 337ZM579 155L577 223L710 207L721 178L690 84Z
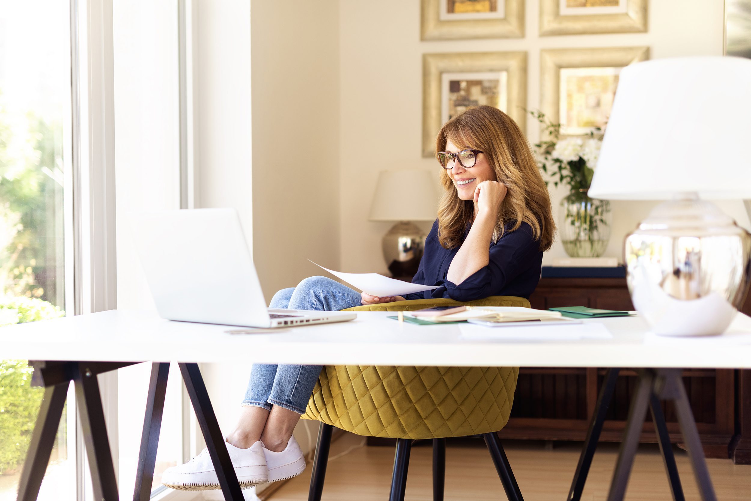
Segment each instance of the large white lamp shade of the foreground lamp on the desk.
M593 198L751 198L751 59L656 59L623 68Z

